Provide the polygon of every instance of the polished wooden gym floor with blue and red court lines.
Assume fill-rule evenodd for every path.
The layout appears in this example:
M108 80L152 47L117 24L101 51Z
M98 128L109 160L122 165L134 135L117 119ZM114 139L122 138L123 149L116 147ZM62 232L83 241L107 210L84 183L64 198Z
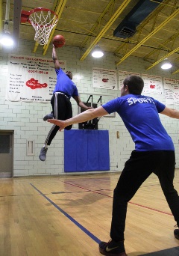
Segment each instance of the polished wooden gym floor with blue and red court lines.
M113 189L119 175L1 178L0 255L99 256L98 243L110 240ZM179 192L179 170L175 189ZM158 255L166 249L169 253L160 255L179 255L174 225L152 174L128 204L128 256Z

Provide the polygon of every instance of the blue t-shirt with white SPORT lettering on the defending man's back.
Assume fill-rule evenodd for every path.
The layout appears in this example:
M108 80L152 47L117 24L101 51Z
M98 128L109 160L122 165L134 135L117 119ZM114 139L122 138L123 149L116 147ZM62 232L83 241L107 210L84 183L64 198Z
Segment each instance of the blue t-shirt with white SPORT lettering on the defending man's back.
M120 115L137 151L175 150L158 115L166 107L163 103L151 97L128 94L102 107L109 114L117 112Z

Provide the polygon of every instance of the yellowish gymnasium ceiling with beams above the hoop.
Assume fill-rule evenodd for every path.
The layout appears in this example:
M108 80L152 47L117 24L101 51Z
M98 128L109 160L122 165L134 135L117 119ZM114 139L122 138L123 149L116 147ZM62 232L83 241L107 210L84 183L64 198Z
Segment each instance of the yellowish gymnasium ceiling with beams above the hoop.
M1 1L1 28L4 28L7 1ZM116 55L116 66L130 56L147 61L148 69L163 59L172 62L172 73L179 72L179 0L9 0L9 30L16 40L34 40L34 28L19 22L21 10L45 7L54 10L58 22L49 41L41 46L34 41L33 52L42 48L45 55L51 38L62 34L66 46L81 49L81 61L87 58L98 43L104 52ZM152 1L157 6L136 25L136 32L127 38L114 36L121 22L128 17L139 1ZM148 8L148 7L147 7ZM144 8L146 9L146 7ZM142 15L142 10L137 14Z

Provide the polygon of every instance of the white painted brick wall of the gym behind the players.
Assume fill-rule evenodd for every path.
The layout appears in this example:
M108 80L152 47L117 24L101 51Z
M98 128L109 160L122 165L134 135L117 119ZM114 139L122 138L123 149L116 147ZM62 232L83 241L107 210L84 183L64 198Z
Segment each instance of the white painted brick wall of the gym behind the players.
M57 175L64 174L63 168L63 132L58 132L51 146L48 147L47 159L41 162L39 159L40 149L45 141L45 136L51 127L43 121L43 116L51 112L51 105L45 103L24 103L9 102L5 100L5 91L7 85L8 54L31 55L51 58L51 46L48 52L43 56L43 46L37 48L33 53L34 41L21 40L19 46L13 51L0 49L0 129L14 131L14 156L13 156L13 176L30 176L30 175ZM64 46L57 49L59 59L66 60L67 70L71 70L73 76L81 75L83 79L73 79L78 87L80 94L109 94L113 97L120 96L120 91L111 91L105 89L92 88L92 67L116 69L116 58L113 54L105 52L103 58L95 59L90 55L84 61L80 61L81 50L76 47ZM117 67L117 70L126 70L136 73L147 73L155 76L162 76L172 79L179 79L179 74L171 75L170 71L160 70L159 66L146 71L150 64L140 58L127 58ZM164 94L149 95L165 103ZM78 114L78 106L72 99L73 115ZM169 106L179 109L179 106ZM176 150L176 167L179 167L179 121L160 115L164 127L171 135ZM78 129L78 124L74 125ZM131 140L128 131L122 123L121 118L101 118L98 123L98 129L108 129L110 134L110 171L122 171L125 161L134 150L134 143ZM120 138L116 138L116 132L119 131ZM27 156L26 141L34 140L35 156ZM88 172L89 173L89 172Z

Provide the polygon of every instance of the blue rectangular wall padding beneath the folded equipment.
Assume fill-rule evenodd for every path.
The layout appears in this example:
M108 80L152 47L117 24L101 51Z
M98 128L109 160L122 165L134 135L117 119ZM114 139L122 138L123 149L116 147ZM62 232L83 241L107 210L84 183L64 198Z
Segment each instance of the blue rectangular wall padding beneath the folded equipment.
M109 132L97 129L64 130L64 171L109 171Z

